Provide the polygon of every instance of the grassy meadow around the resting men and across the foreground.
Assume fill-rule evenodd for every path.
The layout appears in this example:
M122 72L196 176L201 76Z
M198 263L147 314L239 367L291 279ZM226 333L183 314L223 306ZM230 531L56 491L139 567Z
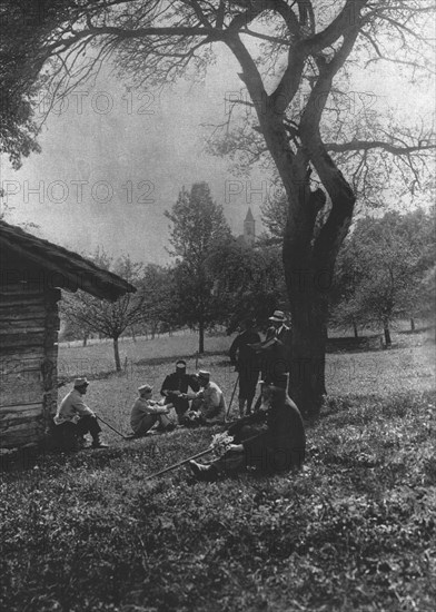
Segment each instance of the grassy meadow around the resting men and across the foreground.
M397 338L395 338L396 340ZM208 368L229 399L230 339L60 346L60 375L129 432L139 384L158 396L176 357ZM40 456L2 474L0 604L11 612L433 611L436 601L435 344L327 358L329 397L297 474L195 483L184 467L219 431L179 428L110 448ZM60 389L60 395L67 387ZM235 412L236 415L236 404Z

